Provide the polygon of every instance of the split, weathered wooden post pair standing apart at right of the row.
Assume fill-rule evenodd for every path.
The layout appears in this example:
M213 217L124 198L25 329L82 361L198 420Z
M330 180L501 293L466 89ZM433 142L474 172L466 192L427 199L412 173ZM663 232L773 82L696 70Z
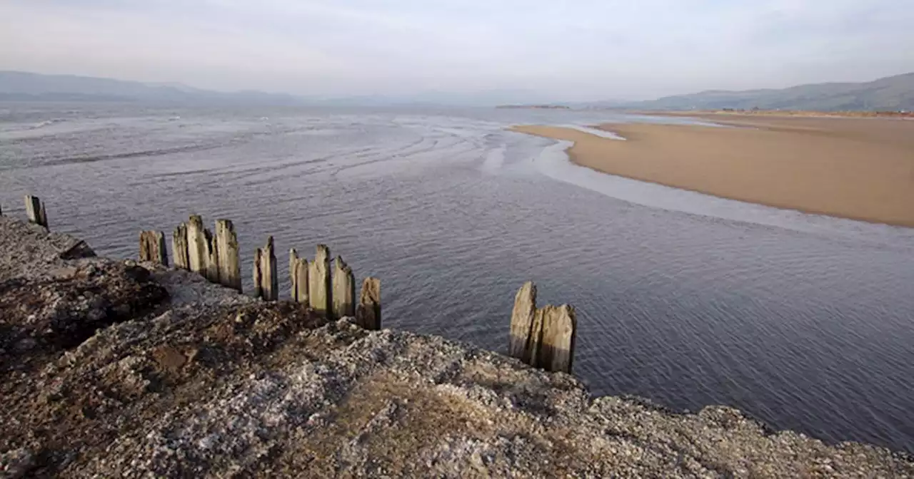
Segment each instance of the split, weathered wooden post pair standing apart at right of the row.
M527 282L515 296L508 354L535 368L570 373L577 328L573 307L537 307L537 286Z

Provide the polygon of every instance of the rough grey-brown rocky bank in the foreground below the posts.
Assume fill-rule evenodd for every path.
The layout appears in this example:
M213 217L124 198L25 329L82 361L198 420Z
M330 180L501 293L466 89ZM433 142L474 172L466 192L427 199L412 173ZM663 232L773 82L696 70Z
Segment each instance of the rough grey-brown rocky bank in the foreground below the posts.
M0 218L0 477L914 476L730 408L593 399L442 338L61 259L76 240L23 227Z

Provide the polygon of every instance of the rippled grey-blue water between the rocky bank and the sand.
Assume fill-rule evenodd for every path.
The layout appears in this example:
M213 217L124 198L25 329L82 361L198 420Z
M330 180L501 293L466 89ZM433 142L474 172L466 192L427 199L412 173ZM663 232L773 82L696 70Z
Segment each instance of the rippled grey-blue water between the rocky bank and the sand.
M140 229L229 218L246 272L269 234L281 264L326 243L382 279L386 326L487 349L532 279L577 307L595 394L914 452L914 230L611 177L505 131L602 120L648 119L0 103L0 204L24 216L35 193L121 257Z

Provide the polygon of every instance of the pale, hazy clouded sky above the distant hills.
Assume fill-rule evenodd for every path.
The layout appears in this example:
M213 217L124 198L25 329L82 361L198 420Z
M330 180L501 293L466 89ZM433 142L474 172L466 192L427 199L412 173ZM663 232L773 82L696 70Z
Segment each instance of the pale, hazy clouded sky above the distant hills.
M654 99L914 71L911 0L0 0L0 70Z

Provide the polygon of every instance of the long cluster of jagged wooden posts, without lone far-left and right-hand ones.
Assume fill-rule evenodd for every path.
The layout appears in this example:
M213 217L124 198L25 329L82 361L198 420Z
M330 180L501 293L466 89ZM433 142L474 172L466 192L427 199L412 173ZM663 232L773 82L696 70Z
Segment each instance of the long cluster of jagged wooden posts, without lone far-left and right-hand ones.
M216 234L203 225L203 218L193 214L186 223L178 224L172 234L175 267L204 276L212 283L241 292L238 235L229 220L216 222ZM356 303L356 278L342 256L336 256L333 272L330 248L317 245L314 261L300 257L292 248L289 252L289 279L292 300L310 306L328 318L355 317L366 329L381 327L381 282L367 277ZM140 232L140 260L168 266L165 234L158 231ZM279 276L273 237L257 248L254 254L254 296L266 301L279 299Z

